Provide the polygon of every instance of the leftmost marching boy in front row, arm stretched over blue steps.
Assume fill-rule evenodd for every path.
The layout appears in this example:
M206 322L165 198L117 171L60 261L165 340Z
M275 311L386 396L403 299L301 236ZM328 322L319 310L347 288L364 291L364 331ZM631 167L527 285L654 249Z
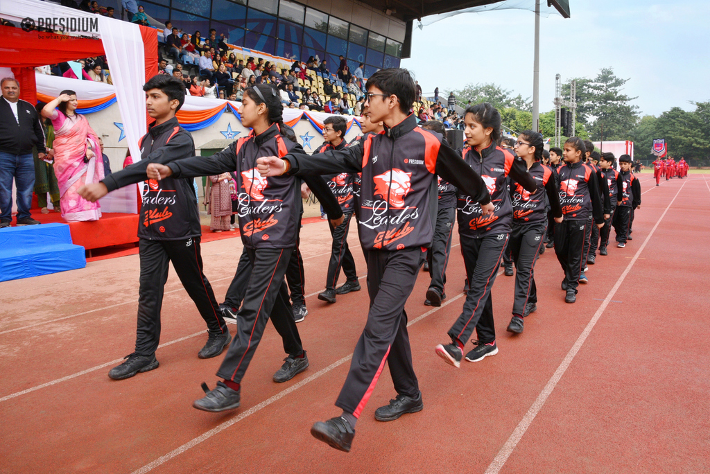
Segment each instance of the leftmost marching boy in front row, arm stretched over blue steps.
M143 90L146 91L148 115L155 121L138 142L141 161L111 173L101 182L78 189L84 199L96 202L114 189L148 179L146 168L151 163L169 163L195 155L192 135L175 118L175 113L185 102L182 81L172 76L156 75L146 82ZM201 235L200 212L192 179L149 180L143 192L138 224L141 277L136 349L126 355L124 363L109 370L112 379L122 380L158 368L155 350L160 341L160 308L171 262L207 324L207 343L198 357L216 357L231 341L212 286L202 272Z

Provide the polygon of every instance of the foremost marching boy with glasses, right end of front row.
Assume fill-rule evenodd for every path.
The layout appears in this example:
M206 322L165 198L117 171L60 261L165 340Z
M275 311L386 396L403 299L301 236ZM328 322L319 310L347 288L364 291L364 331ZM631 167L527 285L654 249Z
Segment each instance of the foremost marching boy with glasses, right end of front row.
M369 118L374 123L383 121L384 133L368 135L343 150L259 160L265 176L362 172L356 206L368 261L368 317L335 403L342 414L311 428L317 439L342 451L350 451L356 421L385 363L397 396L378 408L375 418L391 421L423 408L404 306L434 233L436 176L469 194L471 204L481 204L484 216L493 211L481 177L442 143L442 136L417 127L417 118L410 114L416 92L408 70L379 70L368 79L367 89Z

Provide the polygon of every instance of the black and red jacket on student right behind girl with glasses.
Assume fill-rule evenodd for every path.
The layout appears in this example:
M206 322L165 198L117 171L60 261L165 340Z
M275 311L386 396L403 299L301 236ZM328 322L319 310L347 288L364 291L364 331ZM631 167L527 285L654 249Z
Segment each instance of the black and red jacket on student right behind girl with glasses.
M604 221L596 172L583 162L565 162L557 169L559 204L565 221L586 221L593 216L596 224Z

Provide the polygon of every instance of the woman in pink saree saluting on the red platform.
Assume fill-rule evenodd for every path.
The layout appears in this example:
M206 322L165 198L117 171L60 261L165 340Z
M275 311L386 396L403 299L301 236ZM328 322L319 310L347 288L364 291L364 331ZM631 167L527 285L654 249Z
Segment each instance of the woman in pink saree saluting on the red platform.
M101 205L88 202L77 194L77 189L103 180L104 162L99 137L76 109L77 94L67 90L47 104L42 115L52 120L55 129L54 171L59 182L62 218L67 222L97 221Z

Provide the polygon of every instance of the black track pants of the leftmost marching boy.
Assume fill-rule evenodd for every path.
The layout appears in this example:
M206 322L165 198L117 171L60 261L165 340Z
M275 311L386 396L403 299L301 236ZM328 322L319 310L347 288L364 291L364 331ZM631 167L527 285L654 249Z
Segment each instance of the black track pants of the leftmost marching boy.
M181 241L138 241L141 256L141 287L138 290L138 329L136 330L136 354L152 355L160 342L160 308L163 306L163 290L168 280L168 263L195 302L200 316L207 323L209 334L226 331L224 318L214 299L212 286L202 272L200 237Z

